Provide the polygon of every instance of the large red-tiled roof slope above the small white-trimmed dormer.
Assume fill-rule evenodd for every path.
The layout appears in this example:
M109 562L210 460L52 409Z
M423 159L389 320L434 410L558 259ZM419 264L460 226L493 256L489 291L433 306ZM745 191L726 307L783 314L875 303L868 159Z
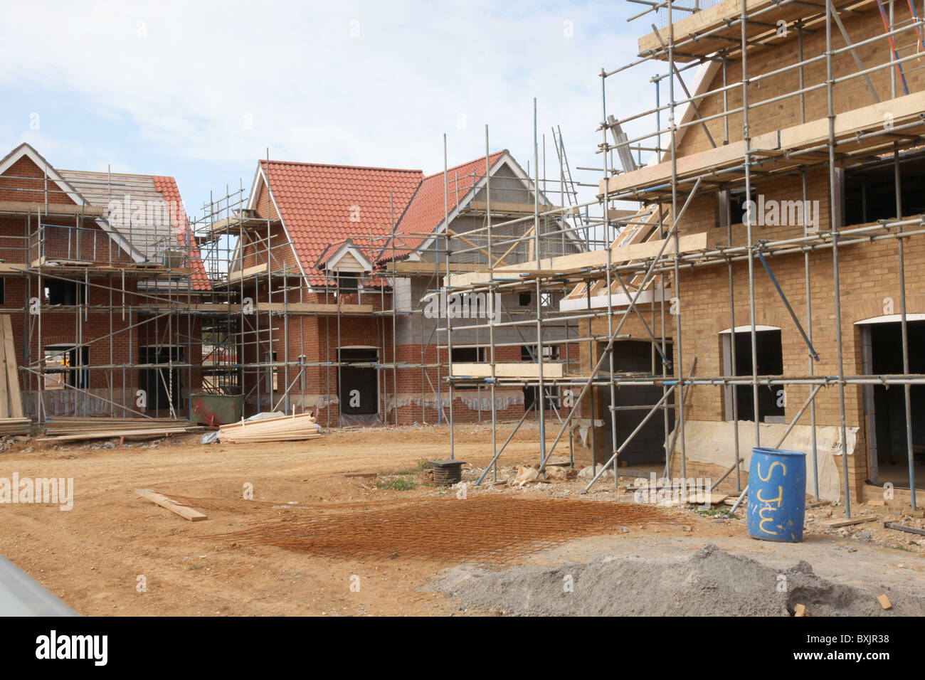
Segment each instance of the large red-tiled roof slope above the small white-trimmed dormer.
M314 268L331 243L351 239L365 253L381 247L424 178L421 170L260 161L302 268ZM391 192L391 205L389 204ZM370 235L372 238L370 238ZM365 237L365 238L363 238ZM324 285L323 277L309 275Z

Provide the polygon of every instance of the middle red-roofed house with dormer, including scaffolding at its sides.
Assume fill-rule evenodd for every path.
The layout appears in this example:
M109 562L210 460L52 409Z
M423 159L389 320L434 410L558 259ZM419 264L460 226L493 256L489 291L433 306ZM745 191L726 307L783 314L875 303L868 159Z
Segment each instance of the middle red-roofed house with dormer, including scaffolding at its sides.
M532 360L540 349L522 326L567 290L454 296L441 280L586 250L562 216L536 226L535 205L551 205L545 185L506 150L429 176L260 161L250 191L207 205L196 229L211 284L228 300L203 321L206 382L243 395L245 414L310 411L327 427L520 418L533 386L455 388L450 364ZM492 217L511 221L486 232ZM543 328L538 346L558 375L578 366L562 344L576 332Z

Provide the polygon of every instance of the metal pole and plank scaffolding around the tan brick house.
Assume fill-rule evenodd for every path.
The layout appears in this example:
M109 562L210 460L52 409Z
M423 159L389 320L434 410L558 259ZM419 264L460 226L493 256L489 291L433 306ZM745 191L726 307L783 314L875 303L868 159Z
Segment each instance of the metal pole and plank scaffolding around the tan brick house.
M566 372L561 377L545 377L543 364L548 360L543 352L537 352L535 359L539 368L536 377L499 376L492 346L493 327L485 324L490 352L487 376L451 375L448 383L450 386L487 384L494 389L516 381L535 386L550 398L554 388L571 389L570 405L563 408L561 424L551 443L546 438L544 409L539 410L539 467L540 471L545 471L549 457L566 434L569 435L571 455L575 420L579 414L590 414L590 419L584 420L590 420L591 460L592 464L602 462L603 466L598 468L586 491L606 470L617 470L621 453L642 427L658 414L661 414L663 426L663 475L669 475L674 460L680 475L686 477L685 412L692 407L688 400L697 386L713 386L727 392L733 390L734 395L740 387L750 388L757 446L761 445L762 439L759 391L778 386L802 390L808 394L805 402L799 408L794 404L786 406L788 417L782 422L786 426L783 437L765 443L780 447L801 418L808 414L812 431L811 451L808 453L813 461L817 500L820 493L818 464L822 455L816 441L817 426L821 422L817 402L820 395L833 391L837 393L834 425L838 427L840 446L843 447L839 472L847 517L851 516L851 482L860 477L858 464L856 469L849 469L847 424L854 419L848 415L846 392L866 406L866 402L872 400L875 386L896 386L904 392L904 448L907 452L909 501L915 509L916 451L910 390L913 386L925 384L925 375L909 370L907 249L910 241L925 233L925 218L918 215L920 209L907 209L904 215L904 207L909 202L908 195L904 196L902 191L900 175L904 163L915 162L921 157L925 135L925 114L922 114L925 111L925 93L922 92L920 78L925 26L919 19L917 8L912 2L883 0L842 3L827 0L820 4L796 0L631 1L646 8L629 20L650 19L654 14L662 19L662 28L654 23L650 25L652 32L640 40L637 59L612 70L601 69L601 117L598 126L601 142L597 149L601 164L598 168L578 168L594 171L602 178L598 184L581 185L598 187L598 195L596 200L580 204L580 208L586 215L586 229L601 236L600 241L605 244L603 250L589 248L584 259L563 257L544 262L536 258L520 268L501 267L499 270L489 264L482 272L469 277L450 277L450 267L447 267L447 280L454 291L523 290L535 291L538 298L544 291L570 290L565 300L571 301L571 304L563 304L559 310L537 310L535 318L515 323L535 328L534 341L540 347L546 324L573 323L586 328L586 333L581 334L586 337L571 340L586 348L583 370ZM879 31L871 29L874 18L877 22L882 19ZM847 28L856 32L855 40L852 40ZM865 31L864 35L857 38L857 31L861 30ZM836 40L844 44L836 45ZM785 48L780 47L785 41ZM770 67L767 66L768 59L754 56L760 55L762 50L775 48L779 48L778 58L771 61ZM750 68L750 57L757 61L759 67L764 65L763 70ZM608 82L630 68L646 65L651 68L654 64L666 65L667 71L651 77L656 90L656 105L644 112L619 118L609 115ZM736 76L738 68L741 70ZM688 88L685 79L692 69L697 69L697 84ZM787 86L783 91L774 90L771 85L780 83L782 79L787 79ZM719 86L717 81L721 83ZM762 90L762 86L767 89ZM889 96L882 97L887 91ZM837 102L836 92L839 94ZM814 109L810 104L815 105L819 115L811 115ZM771 126L759 115L768 115L772 105L785 111L792 122L776 130L767 130ZM624 128L633 132L627 133ZM767 131L757 133L755 130ZM699 135L700 148L679 155L682 138L695 135ZM537 167L538 148L535 109L534 167ZM644 152L655 155L657 162L644 166L641 162ZM864 194L867 185L864 184L860 189L863 218L854 223L846 221L843 199L845 173L857 168L893 170L894 195L890 198L894 209L886 213L890 216L870 218ZM759 238L759 215L754 205L744 210L741 226L734 223L731 219L733 204L738 201L739 206L747 206L755 196L756 182L784 179L801 187L802 196L794 198L801 199L804 206L815 196L824 197L821 203L827 208L829 229L820 229L818 223L813 228L804 214L802 233L778 233L776 238L773 234ZM711 210L706 220L702 215L705 212L704 196L712 197L720 204L716 213ZM854 200L855 197L849 198ZM614 205L618 201L635 201L640 209L626 216L615 210ZM599 214L599 217L590 217L590 212ZM908 214L910 212L911 215ZM537 204L534 214L525 219L532 219L534 225L538 225L540 219L556 213L544 211ZM689 217L686 223L685 217ZM697 241L698 231L709 231L703 224L698 225L700 229L685 229L685 224L695 224L697 217L711 222L709 227L724 229L699 234L703 239ZM493 247L493 229L511 223L491 224L489 217L485 229L489 252ZM640 231L648 234L649 240L644 244L648 248L640 249L638 244L630 242ZM714 236L714 233L717 235ZM529 238L530 235L524 236L524 239ZM707 239L725 242L714 243ZM892 255L882 250L888 243L894 243ZM462 247L448 245L448 251L464 252L465 245L459 245ZM874 254L865 255L865 252ZM831 254L828 264L821 258L823 253ZM846 375L844 274L840 271L845 257L849 258L853 267L851 271L857 271L858 258L869 257L871 269L875 263L882 264L876 268L875 276L892 278L898 293L895 297L898 301L896 316L901 328L902 371L877 375L873 370L865 370ZM883 264L887 259L890 262ZM796 278L791 272L782 285L774 270L795 262L799 263L801 275ZM690 338L692 325L687 325L689 317L684 318L683 323L683 314L677 313L680 311L677 305L684 309L685 303L691 299L684 290L685 284L697 286L698 277L718 267L720 271L725 268L728 278L726 315L731 370L715 375L697 375L697 360L704 363L706 357L688 358L682 340L683 337ZM746 267L745 271L743 267ZM747 287L735 282L739 272L742 272L740 277L746 276ZM773 285L771 291L776 291L771 294L780 298L788 314L785 318L788 324L792 324L788 329L798 332L805 343L805 372L782 371L780 375L759 375L757 316L762 307L771 304L771 300L756 299L756 291L759 290L756 278L765 274ZM825 281L829 286L827 292L823 287ZM604 303L598 305L597 312L591 303L592 291L597 291L598 300L603 291ZM791 298L803 296L800 302L805 304L805 309L799 310L799 314L789 302L788 293ZM741 312L736 318L736 310L743 306L742 296L747 296L747 322L741 318ZM581 307L583 298L584 309ZM721 291L712 291L714 305L720 305L721 299ZM825 306L820 314L822 303ZM890 299L890 304L893 303ZM890 309L889 315L893 314ZM829 316L833 324L826 327L823 337L820 328ZM593 319L598 320L597 325L592 324ZM635 336L627 333L630 322L635 325ZM598 328L597 335L593 330L595 326ZM446 344L451 347L452 324L447 323L441 331L446 334ZM735 340L740 332L747 334L750 375L737 375ZM834 337L834 357L826 358L829 360L827 366L833 370L823 374L818 368L820 354L815 344L828 340L829 334ZM617 343L630 337L641 337L651 343L653 352L649 371L634 373L615 367ZM599 344L596 346L596 343ZM865 365L870 367L870 347L864 346L857 353L864 353ZM638 414L635 427L624 426L618 431L618 414L623 416L622 409L626 407L615 405L617 390L639 386L660 389L660 399L642 408L633 407ZM606 392L610 394L610 413L602 420L608 421L604 427L611 430L612 447L604 460L598 461L595 460L594 443L598 414L595 400ZM741 501L747 487L743 487L741 477L743 459L739 451L737 403L738 399L734 396L729 404L731 409L724 417L733 422L734 457L729 460L730 467L722 477L734 472L735 488L741 492ZM866 407L864 413L863 417L869 421L865 425L870 430L872 416L867 413ZM497 418L495 414L492 416L494 425ZM826 417L832 419L831 415ZM861 431L864 429L861 428ZM870 431L867 436L872 436ZM483 482L489 470L497 477L497 464L503 450L504 445L499 448L493 439L492 461L479 483ZM450 439L450 457L452 455ZM858 457L856 455L856 459ZM613 476L614 485L618 476Z

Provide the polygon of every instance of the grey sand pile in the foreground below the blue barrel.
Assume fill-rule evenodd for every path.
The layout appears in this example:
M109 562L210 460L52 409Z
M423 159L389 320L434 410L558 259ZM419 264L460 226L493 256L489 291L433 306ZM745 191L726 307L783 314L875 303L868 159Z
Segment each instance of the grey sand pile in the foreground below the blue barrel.
M433 587L469 607L528 615L788 616L796 604L811 616L925 614L925 600L886 589L846 586L800 562L783 572L708 545L687 558L611 554L557 569L506 571L454 567ZM889 595L884 612L877 596Z

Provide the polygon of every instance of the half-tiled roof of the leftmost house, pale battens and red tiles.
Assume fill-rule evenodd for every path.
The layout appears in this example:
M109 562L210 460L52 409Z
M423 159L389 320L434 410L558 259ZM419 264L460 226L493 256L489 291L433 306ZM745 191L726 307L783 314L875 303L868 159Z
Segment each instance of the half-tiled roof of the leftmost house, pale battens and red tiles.
M183 249L190 238L192 287L196 291L211 289L199 247L192 234L188 234L186 210L175 179L82 170L59 172L87 203L109 209L110 226L145 258L160 259L169 250ZM144 205L142 219L135 216L138 202ZM118 215L112 210L113 204L124 206Z

